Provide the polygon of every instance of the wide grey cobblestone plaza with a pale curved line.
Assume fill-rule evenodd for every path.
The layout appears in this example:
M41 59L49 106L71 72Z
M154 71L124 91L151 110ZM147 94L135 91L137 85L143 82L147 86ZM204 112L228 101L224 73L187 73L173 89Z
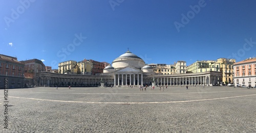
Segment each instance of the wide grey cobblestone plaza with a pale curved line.
M8 98L0 132L256 132L255 88L38 87Z

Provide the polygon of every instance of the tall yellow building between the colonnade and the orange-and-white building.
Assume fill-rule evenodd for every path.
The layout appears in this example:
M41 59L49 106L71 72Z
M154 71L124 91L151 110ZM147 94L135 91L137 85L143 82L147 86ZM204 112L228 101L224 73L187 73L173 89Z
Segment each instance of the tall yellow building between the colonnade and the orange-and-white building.
M220 58L217 59L217 62L220 63L221 70L221 82L228 84L233 82L233 64L236 63L235 59L226 59Z

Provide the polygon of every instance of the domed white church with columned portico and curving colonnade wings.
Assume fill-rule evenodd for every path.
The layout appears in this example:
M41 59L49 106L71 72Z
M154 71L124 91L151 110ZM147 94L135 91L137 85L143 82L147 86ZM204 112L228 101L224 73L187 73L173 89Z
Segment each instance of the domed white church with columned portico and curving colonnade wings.
M183 65L183 64L181 64ZM183 65L184 66L184 65ZM183 69L183 68L182 68ZM61 74L50 72L38 72L38 85L47 86L75 86L89 87L104 86L184 86L184 85L217 85L220 80L220 71L206 71L200 73L174 73L159 74L154 72L154 67L146 65L145 62L127 50L117 57L112 66L108 65L103 73L97 75Z

